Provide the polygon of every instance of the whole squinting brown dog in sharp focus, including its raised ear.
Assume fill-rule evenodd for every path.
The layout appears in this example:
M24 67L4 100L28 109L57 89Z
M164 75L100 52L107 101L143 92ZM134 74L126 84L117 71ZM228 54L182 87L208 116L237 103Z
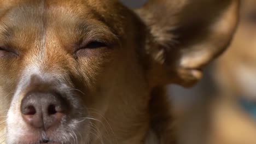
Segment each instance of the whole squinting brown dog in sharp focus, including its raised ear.
M0 143L172 143L165 85L228 46L238 1L0 1Z

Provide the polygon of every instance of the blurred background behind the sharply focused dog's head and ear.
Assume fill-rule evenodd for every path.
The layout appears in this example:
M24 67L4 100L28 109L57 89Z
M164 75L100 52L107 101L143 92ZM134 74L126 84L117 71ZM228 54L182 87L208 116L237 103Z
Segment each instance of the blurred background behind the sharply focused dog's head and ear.
M139 8L146 0L121 0ZM171 0L170 0L171 1ZM256 1L243 0L229 49L194 88L168 87L181 144L256 144Z

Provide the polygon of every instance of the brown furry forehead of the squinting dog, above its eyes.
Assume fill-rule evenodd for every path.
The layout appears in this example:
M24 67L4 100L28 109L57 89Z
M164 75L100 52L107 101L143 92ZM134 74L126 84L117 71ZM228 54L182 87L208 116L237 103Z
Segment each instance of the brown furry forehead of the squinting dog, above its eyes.
M62 35L69 33L68 36L75 39L74 35L81 35L86 27L94 31L91 33L107 36L124 33L124 17L120 13L124 7L117 1L11 0L1 3L0 38L6 32L9 35L14 32L18 37L26 34L25 38L59 30Z

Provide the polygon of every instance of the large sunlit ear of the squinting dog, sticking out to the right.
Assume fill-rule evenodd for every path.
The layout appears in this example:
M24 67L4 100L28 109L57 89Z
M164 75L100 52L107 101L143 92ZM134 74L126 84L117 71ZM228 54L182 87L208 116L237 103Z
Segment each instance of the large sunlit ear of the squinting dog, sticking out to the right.
M149 0L138 9L148 29L151 85L200 80L202 68L229 45L238 7L238 0Z

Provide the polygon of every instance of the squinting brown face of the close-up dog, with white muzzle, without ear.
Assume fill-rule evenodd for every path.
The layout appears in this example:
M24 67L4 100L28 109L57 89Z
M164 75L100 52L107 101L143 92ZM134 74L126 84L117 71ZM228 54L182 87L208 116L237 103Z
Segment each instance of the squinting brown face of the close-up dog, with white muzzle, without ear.
M113 135L107 121L121 130L147 117L136 112L147 109L149 95L132 35L139 29L128 25L131 16L118 15L126 11L119 3L14 3L1 23L1 116L7 116L8 143L87 141L105 131Z

